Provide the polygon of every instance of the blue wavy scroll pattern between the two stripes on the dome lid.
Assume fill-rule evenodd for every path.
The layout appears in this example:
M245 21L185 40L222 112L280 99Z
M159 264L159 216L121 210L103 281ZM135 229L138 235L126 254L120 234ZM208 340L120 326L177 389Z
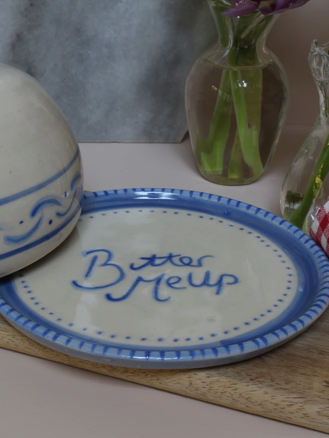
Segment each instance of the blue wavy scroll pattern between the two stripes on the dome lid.
M78 194L78 182L81 180L81 174L80 172L76 173L71 181L70 188L71 190L74 189L74 194L72 197L72 200L70 202L70 205L68 208L65 209L64 212L56 212L55 215L58 218L64 218L71 210L73 203L77 197ZM82 190L81 190L82 192ZM66 195L66 193L65 193ZM41 224L44 220L44 210L49 207L62 207L62 200L56 196L45 196L41 198L31 209L30 211L30 218L35 218L38 214L40 214L40 218L37 220L37 222L29 229L27 232L19 235L5 235L3 237L3 241L7 245L15 245L18 243L23 243L29 240L40 228ZM49 224L52 223L52 220L49 221Z

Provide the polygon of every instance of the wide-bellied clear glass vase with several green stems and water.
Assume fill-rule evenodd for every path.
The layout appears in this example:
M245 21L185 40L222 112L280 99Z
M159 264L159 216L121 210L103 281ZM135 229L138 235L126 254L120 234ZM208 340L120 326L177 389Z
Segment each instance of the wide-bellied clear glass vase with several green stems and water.
M288 109L286 74L265 44L278 15L232 18L222 15L227 0L208 2L219 38L187 78L190 140L203 177L249 184L271 161Z

